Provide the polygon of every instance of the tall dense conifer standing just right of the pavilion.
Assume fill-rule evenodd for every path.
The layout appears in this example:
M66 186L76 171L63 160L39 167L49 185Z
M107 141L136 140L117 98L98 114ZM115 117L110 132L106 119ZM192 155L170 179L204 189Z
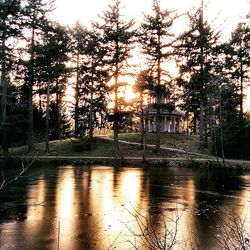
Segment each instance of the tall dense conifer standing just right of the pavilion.
M199 118L200 147L207 144L208 95L213 91L216 76L216 49L218 34L204 21L203 6L194 14L189 14L190 28L179 38L176 46L180 77L178 83L184 89L184 107L193 113L196 133L196 120Z

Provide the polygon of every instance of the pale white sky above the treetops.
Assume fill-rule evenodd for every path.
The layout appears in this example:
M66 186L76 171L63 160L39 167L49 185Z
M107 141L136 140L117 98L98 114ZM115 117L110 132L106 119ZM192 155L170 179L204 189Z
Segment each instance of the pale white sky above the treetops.
M76 20L83 25L89 25L96 20L97 15L107 9L113 0L56 0L54 18L65 25L73 26ZM204 0L205 18L215 29L222 30L227 35L236 24L250 12L250 0ZM184 13L197 8L201 0L161 0L162 8L177 10ZM142 13L150 13L151 0L123 0L123 12L130 19L142 19Z

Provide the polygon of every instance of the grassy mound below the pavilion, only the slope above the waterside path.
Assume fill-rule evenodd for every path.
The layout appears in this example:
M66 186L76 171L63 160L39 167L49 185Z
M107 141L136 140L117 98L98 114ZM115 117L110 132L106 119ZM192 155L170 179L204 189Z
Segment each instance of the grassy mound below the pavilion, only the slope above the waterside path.
M120 140L140 143L140 134L120 134ZM149 134L147 137L148 144L154 144L155 134ZM179 148L186 151L199 152L198 138L196 136L187 136L181 134L162 134L161 144L167 147ZM44 143L36 144L36 152L28 153L26 146L10 149L11 155L27 155L39 154L50 156L91 156L91 157L142 157L142 149L139 145L129 145L119 143L119 150L114 146L112 140L104 140L100 137L95 137L91 145L81 144L76 139L65 139L50 142L50 152L45 152ZM157 155L154 148L147 148L147 157L180 157L180 153L161 150Z

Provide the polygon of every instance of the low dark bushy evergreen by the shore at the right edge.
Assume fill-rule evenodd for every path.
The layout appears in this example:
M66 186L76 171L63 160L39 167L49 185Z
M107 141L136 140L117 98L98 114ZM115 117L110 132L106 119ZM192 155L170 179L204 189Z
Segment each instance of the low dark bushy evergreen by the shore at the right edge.
M220 156L249 158L250 122L239 112L240 94L234 84L219 87L218 122L212 136L213 149ZM224 158L224 157L223 157Z

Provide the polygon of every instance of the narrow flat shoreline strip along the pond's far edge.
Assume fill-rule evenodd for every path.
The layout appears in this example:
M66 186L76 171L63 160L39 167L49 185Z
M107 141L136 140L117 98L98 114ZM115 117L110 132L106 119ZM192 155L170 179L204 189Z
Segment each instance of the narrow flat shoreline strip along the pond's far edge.
M219 164L216 158L193 158L193 157L148 157L143 160L142 157L105 157L105 156L0 156L0 159L6 161L12 160L32 160L38 163L58 163L58 164L83 164L91 166L92 164L109 164L111 166L131 166L140 165L141 167L191 167L191 168L227 168L241 169L250 171L250 161L225 159L225 166L222 166L222 159L219 159Z

